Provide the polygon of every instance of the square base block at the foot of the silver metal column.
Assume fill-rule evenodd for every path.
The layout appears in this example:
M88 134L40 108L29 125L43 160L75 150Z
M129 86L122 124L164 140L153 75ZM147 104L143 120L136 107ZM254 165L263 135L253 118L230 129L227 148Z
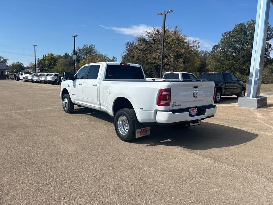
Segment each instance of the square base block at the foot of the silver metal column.
M238 99L238 107L245 108L261 108L267 105L267 97L239 97Z

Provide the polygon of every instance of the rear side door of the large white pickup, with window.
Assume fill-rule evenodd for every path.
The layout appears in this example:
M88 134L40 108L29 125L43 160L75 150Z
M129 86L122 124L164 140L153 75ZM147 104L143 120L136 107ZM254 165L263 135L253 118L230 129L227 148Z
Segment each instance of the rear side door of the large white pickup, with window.
M84 80L83 97L84 104L98 107L98 86L102 64L91 65Z

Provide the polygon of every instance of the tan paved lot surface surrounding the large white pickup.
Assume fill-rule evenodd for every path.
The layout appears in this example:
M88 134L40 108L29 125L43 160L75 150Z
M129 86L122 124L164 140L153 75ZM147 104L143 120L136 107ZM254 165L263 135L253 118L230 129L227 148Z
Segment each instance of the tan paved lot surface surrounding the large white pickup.
M66 114L59 90L0 81L0 204L273 204L272 95L127 143L107 114Z

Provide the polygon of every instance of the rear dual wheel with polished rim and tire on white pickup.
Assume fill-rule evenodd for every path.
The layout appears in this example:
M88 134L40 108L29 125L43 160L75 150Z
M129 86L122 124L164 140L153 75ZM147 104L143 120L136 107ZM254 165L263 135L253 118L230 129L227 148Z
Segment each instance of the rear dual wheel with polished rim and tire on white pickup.
M135 139L135 111L133 109L121 109L115 115L115 130L122 141Z

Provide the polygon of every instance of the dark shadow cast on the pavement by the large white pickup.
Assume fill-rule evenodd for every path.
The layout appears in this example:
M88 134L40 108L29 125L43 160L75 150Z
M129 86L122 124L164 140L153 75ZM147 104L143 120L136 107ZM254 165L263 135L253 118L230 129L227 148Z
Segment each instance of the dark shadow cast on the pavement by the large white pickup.
M114 118L107 113L91 108L76 108L73 114L90 115L114 123ZM113 131L114 129L113 125ZM193 150L205 150L244 144L254 140L256 137L258 137L258 134L242 129L202 121L201 125L186 129L174 129L171 126L153 125L151 126L150 135L135 139L130 141L130 143L147 144L146 147L166 145Z

